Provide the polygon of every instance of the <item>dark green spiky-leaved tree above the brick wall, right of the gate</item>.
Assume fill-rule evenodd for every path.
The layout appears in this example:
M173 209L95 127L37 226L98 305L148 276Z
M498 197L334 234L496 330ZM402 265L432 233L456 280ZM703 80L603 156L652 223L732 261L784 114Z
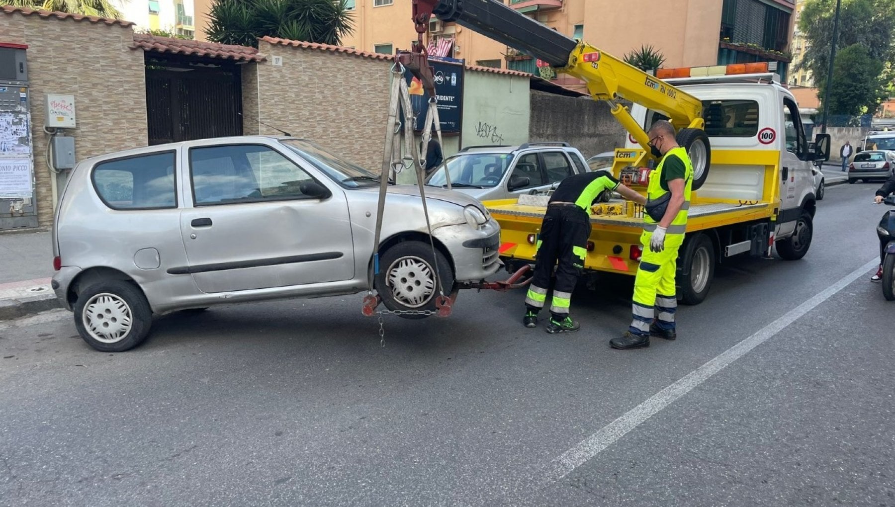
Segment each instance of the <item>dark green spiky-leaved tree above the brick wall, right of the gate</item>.
M338 45L352 30L345 0L216 0L206 34L240 46L264 36Z

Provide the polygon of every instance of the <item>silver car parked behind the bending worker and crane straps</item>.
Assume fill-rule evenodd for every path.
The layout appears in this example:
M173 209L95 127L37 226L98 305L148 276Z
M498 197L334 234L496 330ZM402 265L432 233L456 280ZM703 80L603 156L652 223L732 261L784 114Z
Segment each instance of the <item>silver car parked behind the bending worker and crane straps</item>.
M584 156L567 142L532 142L521 146L464 148L447 157L426 185L451 187L480 201L516 199L520 194L550 190L572 174L587 173Z

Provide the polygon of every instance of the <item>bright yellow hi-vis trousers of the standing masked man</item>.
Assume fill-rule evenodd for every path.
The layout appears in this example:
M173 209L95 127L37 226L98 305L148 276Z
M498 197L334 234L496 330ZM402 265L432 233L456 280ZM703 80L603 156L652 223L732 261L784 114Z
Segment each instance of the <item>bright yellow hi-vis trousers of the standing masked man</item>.
M663 330L674 330L674 314L678 310L675 275L678 271L678 250L683 235L669 234L665 237L665 249L653 252L650 249L651 232L644 232L644 255L640 258L637 277L634 282L634 318L628 329L632 334L650 334L654 317L656 325ZM657 315L658 314L658 315Z

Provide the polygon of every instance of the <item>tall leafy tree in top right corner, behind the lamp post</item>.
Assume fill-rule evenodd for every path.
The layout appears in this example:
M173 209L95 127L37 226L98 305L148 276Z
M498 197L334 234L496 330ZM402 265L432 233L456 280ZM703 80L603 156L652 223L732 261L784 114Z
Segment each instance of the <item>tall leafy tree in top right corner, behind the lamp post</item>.
M805 34L808 48L800 68L814 73L814 82L817 83L820 97L826 93L826 76L830 62L830 48L832 45L833 14L836 11L836 0L809 0L802 11L798 24L799 30ZM873 113L879 106L879 97L884 95L884 89L891 82L892 63L895 63L895 2L892 0L842 0L840 10L840 30L837 40L836 63L834 65L834 80L837 76L836 69L840 69L840 76L846 73L852 74L862 82L853 82L855 89L865 90L860 95L865 97L862 106ZM843 55L846 48L852 47ZM857 46L863 47L859 49ZM855 62L848 62L848 58L866 58L873 63L873 72L865 70L847 70L843 65L858 66ZM840 60L841 59L841 60ZM877 65L879 63L879 65ZM841 82L841 81L840 81ZM869 88L874 88L872 92ZM844 93L847 97L834 97L834 93ZM830 93L830 113L837 113L840 108L854 110L850 104L857 92L849 90L847 86L833 86ZM825 107L826 105L822 105Z

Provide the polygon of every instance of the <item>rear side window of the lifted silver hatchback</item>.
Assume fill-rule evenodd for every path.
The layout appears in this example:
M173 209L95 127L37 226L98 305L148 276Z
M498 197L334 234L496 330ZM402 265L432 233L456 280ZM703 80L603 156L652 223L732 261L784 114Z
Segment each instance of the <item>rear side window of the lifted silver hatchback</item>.
M102 162L91 178L99 198L113 209L177 207L174 151Z

